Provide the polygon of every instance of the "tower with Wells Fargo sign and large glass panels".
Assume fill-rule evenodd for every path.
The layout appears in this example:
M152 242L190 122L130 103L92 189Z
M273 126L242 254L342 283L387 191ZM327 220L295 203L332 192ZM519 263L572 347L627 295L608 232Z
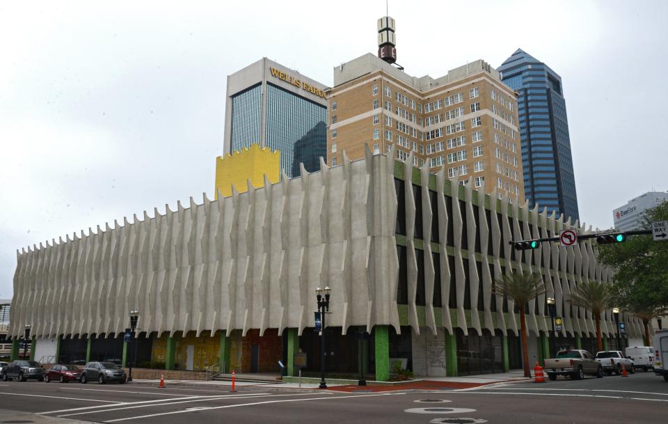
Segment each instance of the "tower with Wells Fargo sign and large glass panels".
M287 177L319 169L326 156L326 86L262 58L228 76L225 103L225 152L252 144L280 151Z

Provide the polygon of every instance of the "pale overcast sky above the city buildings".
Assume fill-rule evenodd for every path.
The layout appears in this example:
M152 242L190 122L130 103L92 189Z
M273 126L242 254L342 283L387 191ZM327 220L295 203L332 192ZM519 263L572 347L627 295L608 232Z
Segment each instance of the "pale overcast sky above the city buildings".
M440 77L517 48L562 77L580 218L668 190L665 1L389 1L397 62ZM228 74L266 56L323 84L376 53L385 1L0 3L0 298L16 250L202 193Z

